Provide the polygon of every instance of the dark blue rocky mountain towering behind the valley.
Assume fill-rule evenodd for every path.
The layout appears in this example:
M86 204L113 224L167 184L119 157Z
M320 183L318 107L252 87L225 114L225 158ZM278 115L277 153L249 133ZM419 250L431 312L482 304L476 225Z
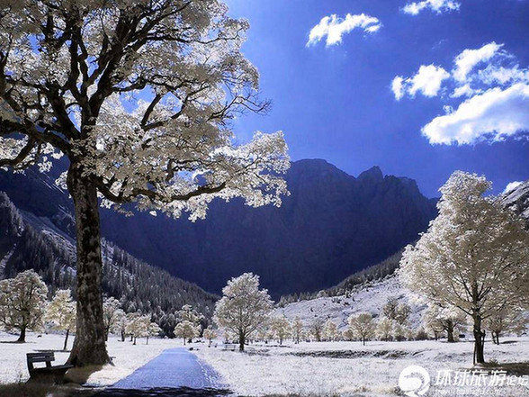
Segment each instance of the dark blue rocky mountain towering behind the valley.
M379 167L355 178L307 159L293 162L285 177L291 195L281 208L214 201L206 220L194 223L102 210L103 236L208 291L252 271L277 297L336 285L417 239L436 214L435 200L415 181L383 176ZM3 173L0 189L23 211L71 230L71 203L49 176Z

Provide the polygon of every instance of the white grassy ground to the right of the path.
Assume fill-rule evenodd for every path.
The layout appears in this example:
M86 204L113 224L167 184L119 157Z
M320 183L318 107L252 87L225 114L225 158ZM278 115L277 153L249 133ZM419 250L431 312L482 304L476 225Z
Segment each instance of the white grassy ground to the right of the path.
M529 338L505 341L500 346L487 343L487 360L529 363ZM202 347L195 354L217 370L232 391L243 395L403 395L397 389L400 372L408 365L421 365L431 376L426 396L529 396L524 385L435 386L438 370L471 369L472 346L471 342L442 341L372 341L365 347L360 342L311 342L283 347L251 345L242 354Z

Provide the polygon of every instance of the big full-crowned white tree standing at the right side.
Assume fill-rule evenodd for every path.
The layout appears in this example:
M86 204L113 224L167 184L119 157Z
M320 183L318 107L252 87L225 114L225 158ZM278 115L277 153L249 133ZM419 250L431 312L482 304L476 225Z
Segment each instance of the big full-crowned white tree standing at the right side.
M402 283L428 302L471 316L474 362L484 363L483 320L522 304L529 234L495 197L484 176L456 171L440 189L439 216L400 262Z

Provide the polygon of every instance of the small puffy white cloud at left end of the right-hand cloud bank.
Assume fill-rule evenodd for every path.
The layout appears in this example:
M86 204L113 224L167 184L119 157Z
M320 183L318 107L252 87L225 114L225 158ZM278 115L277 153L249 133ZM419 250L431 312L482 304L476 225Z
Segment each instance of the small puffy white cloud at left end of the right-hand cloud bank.
M413 77L395 77L391 83L391 89L397 100L405 94L414 97L417 92L431 97L437 95L443 80L449 77L450 74L444 68L423 65Z

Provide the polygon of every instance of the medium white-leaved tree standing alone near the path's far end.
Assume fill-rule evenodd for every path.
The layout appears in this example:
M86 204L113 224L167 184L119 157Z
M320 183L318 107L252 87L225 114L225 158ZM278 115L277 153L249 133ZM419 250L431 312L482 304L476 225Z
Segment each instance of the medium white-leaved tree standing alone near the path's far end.
M243 351L249 337L270 316L273 302L267 290L259 289L259 276L245 273L229 280L215 306L214 321L238 338Z

